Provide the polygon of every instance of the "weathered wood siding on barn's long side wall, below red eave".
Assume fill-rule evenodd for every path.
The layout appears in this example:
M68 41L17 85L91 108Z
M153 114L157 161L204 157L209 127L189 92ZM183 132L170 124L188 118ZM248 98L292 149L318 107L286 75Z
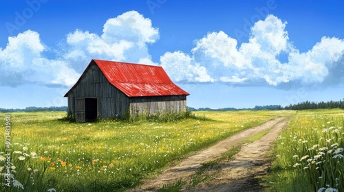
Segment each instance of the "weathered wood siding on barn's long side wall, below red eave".
M157 112L180 112L186 109L186 95L158 97L129 97L130 113L154 114Z

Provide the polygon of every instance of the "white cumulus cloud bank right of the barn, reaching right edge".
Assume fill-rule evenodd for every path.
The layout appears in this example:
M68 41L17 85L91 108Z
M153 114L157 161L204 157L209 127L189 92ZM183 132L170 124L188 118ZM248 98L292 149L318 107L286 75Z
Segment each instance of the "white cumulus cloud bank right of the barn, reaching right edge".
M180 60L182 55L197 61L197 67L206 71L208 82L242 84L263 80L274 86L293 81L306 84L323 82L335 67L338 68L338 60L344 54L344 41L323 37L312 49L302 53L290 43L286 25L287 22L282 22L277 16L268 15L264 21L257 21L251 27L247 43L237 45L235 38L222 31L209 32L195 41L190 55L178 52L165 56L169 56L169 61ZM281 55L288 60L281 61ZM161 62L168 65L162 59ZM178 74L178 69L187 71L180 63L175 64L175 69L170 67L168 70L176 80L200 82L197 75L190 75L193 74L190 71L186 73L189 75ZM187 69L192 66L190 63L184 62Z

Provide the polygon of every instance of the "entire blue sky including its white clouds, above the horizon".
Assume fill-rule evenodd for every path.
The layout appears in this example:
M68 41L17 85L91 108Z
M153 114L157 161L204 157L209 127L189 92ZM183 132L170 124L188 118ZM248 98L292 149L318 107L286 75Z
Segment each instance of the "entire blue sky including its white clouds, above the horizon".
M155 64L195 108L343 99L344 1L1 1L0 108L67 106L92 58Z

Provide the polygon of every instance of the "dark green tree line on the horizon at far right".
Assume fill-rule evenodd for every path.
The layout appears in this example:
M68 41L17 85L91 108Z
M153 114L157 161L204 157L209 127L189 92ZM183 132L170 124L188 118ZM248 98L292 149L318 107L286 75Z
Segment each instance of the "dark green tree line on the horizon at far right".
M330 108L341 108L344 109L344 100L339 101L303 101L298 104L290 104L289 106L284 107L286 110L304 110L304 109L330 109Z

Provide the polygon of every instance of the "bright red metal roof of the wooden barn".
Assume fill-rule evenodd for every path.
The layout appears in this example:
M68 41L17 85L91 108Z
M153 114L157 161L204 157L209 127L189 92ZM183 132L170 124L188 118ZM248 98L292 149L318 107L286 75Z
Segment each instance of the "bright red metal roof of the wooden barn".
M107 60L92 61L107 80L128 97L189 95L172 82L162 67Z

